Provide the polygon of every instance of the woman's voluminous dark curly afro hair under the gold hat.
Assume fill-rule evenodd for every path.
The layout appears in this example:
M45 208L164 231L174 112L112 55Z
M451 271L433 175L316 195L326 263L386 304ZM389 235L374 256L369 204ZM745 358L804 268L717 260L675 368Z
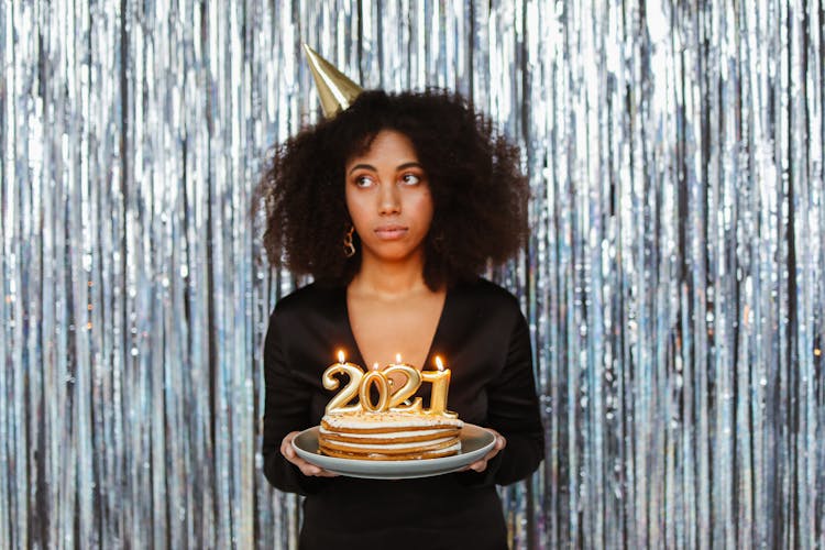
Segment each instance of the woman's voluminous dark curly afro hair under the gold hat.
M382 130L409 138L429 178L435 213L424 276L430 288L472 279L487 262L503 263L518 253L528 231L529 195L518 148L461 96L370 90L268 158L255 205L263 199L264 246L273 264L330 285L344 285L358 273L358 237L352 257L342 244L351 226L344 165Z

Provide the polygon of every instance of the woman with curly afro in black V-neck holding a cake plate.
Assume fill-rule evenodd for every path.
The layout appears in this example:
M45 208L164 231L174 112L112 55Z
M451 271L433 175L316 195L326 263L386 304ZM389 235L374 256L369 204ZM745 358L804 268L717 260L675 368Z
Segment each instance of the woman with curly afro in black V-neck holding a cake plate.
M278 301L264 351L264 473L307 495L300 547L506 548L495 485L536 470L543 437L527 323L479 273L527 232L517 148L460 97L365 91L277 150L258 193L268 257L315 279ZM338 349L364 366L444 358L448 408L488 428L494 449L463 472L400 481L302 461L292 439L319 424Z

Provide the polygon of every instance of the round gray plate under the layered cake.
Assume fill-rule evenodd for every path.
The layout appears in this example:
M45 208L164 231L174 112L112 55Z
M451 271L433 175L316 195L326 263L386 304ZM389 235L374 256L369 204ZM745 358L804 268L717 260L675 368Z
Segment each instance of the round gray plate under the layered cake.
M495 436L472 424L461 428L461 451L442 459L421 460L352 460L326 457L318 453L318 427L309 428L293 439L298 457L330 472L350 477L372 480L403 480L428 477L461 470L484 457L493 448Z

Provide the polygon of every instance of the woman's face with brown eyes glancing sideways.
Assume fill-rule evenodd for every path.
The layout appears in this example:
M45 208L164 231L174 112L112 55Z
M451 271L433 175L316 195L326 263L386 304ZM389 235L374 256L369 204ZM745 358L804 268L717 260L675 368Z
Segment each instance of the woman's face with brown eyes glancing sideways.
M432 222L432 197L409 139L382 130L344 169L346 208L363 257L397 262L421 255Z

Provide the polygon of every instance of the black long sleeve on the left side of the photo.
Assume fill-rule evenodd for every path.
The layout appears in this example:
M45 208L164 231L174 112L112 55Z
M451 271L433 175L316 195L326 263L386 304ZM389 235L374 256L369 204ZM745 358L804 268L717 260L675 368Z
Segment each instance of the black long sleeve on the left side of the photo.
M264 475L276 488L301 495L317 492L327 480L308 477L280 453L280 442L290 431L310 427L311 386L301 382L289 367L287 332L277 308L270 318L264 344Z

